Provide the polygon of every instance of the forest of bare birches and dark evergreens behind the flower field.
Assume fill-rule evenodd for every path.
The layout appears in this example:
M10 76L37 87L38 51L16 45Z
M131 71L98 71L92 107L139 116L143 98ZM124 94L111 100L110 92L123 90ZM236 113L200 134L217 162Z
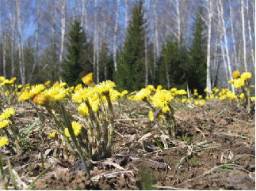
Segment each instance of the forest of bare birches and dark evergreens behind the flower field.
M254 81L253 0L1 0L0 5L0 76L17 77L23 87L68 81L65 65L75 56L72 40L79 41L71 32L75 38L80 29L83 44L72 66L76 79L94 73L96 83L112 80L120 90L161 84L201 93L213 87L235 92L227 84L235 70L251 72Z

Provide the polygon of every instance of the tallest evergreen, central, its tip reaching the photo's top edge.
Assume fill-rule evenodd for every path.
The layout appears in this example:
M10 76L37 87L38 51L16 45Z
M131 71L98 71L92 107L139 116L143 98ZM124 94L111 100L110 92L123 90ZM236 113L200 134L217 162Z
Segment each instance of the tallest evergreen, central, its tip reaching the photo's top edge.
M121 91L135 91L144 86L144 36L145 20L143 19L143 1L136 2L132 9L132 21L128 26L128 35L124 49L117 61L115 81Z

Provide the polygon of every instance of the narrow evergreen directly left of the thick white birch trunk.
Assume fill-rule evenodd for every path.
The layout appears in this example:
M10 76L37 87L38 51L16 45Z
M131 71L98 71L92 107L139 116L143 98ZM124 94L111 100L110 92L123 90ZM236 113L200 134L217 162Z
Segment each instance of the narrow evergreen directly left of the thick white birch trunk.
M206 88L207 66L207 37L205 36L206 25L201 18L202 7L197 13L197 21L193 26L193 44L190 51L191 60L187 70L189 89L197 89L199 94L204 94Z

